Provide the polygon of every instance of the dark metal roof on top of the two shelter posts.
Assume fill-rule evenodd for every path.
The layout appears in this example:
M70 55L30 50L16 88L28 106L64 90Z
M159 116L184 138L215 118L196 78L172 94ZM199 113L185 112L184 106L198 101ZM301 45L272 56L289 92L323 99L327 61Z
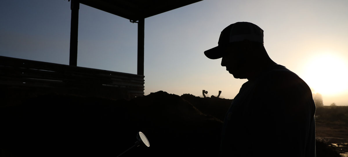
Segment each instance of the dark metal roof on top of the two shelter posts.
M137 21L180 8L201 0L80 0L79 2L105 12Z

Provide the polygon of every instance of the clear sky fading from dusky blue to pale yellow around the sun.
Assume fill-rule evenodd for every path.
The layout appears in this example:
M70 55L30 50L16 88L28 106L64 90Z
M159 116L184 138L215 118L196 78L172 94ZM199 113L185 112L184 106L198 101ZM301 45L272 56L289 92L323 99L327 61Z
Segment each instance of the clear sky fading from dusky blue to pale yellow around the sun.
M67 0L4 0L0 20L0 55L69 64ZM347 0L204 0L145 18L145 95L221 90L234 98L247 80L203 52L238 21L262 28L269 56L321 93L324 105L348 105ZM78 66L136 74L136 23L81 4L78 33Z

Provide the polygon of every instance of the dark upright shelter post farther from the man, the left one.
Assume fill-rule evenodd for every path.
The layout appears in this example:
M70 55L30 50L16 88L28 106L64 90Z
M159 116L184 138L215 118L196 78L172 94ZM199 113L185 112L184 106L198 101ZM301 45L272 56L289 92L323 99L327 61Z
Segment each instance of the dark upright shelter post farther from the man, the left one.
M70 27L70 58L69 65L77 66L77 35L79 28L79 8L78 0L71 0L71 27Z

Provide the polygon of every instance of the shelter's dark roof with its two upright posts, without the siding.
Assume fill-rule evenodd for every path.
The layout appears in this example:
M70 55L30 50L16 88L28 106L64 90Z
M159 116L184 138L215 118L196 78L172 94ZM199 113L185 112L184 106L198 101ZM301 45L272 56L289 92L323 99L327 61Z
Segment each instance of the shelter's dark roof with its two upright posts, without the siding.
M77 37L79 4L121 16L138 23L137 74L144 75L144 21L145 18L186 6L202 0L71 0L70 61L77 65Z

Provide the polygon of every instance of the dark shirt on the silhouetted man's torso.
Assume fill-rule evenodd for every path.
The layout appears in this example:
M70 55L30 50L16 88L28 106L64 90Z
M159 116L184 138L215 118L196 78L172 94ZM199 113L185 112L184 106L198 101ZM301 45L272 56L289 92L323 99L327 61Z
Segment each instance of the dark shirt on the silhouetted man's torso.
M272 66L234 98L220 156L315 157L315 110L308 85L284 66Z

